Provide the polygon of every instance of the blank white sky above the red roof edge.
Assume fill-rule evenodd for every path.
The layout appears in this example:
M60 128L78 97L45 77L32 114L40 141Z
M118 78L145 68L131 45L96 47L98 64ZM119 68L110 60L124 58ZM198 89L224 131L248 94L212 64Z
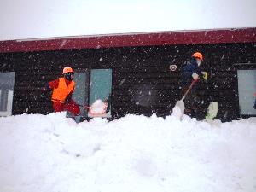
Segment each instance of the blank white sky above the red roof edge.
M256 27L256 0L0 0L0 40Z

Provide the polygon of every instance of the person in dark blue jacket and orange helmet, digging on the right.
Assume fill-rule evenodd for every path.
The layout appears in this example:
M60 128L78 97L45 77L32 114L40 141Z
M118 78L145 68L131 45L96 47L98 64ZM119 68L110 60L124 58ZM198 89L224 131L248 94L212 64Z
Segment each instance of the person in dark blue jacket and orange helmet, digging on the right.
M182 94L184 94L185 91L189 89L190 84L195 81L195 84L183 101L185 104L184 113L192 118L197 118L196 113L201 103L196 91L198 81L201 79L207 80L207 73L202 72L200 69L202 61L203 55L199 52L195 52L192 55L191 61L185 63L182 68Z

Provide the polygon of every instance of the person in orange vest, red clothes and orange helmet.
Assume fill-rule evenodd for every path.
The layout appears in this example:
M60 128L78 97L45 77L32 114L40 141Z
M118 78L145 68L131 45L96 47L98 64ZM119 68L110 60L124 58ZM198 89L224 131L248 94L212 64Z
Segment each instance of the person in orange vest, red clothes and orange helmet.
M63 77L50 81L47 89L53 90L51 101L55 112L69 111L75 116L80 114L79 105L73 101L72 94L75 89L73 81L73 68L64 67Z

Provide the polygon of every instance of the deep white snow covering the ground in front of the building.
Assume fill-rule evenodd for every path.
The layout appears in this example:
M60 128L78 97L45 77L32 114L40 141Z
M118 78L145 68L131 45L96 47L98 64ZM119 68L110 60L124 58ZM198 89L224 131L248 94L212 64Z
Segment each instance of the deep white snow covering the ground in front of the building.
M0 118L1 192L256 191L256 119Z

